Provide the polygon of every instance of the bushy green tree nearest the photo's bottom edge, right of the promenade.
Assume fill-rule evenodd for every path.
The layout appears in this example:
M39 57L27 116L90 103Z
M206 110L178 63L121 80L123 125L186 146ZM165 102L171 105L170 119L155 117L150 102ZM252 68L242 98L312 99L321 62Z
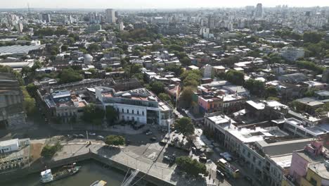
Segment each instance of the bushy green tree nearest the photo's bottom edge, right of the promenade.
M180 156L176 158L176 164L181 169L181 171L188 173L188 175L198 176L203 174L208 175L207 167L204 163L200 163L196 159L191 159L188 156Z

